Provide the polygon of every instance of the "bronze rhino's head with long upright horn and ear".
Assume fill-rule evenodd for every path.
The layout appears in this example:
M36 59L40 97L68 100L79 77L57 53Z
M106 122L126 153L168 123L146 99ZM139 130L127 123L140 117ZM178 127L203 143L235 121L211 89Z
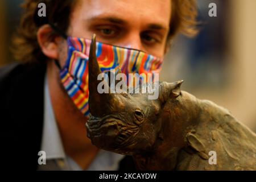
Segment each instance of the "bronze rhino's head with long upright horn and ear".
M163 122L159 118L162 107L170 96L179 96L183 81L162 82L156 100L148 100L148 93L98 93L100 81L97 76L101 71L96 58L95 36L90 45L88 64L90 117L86 129L92 143L124 155L154 150L162 129Z

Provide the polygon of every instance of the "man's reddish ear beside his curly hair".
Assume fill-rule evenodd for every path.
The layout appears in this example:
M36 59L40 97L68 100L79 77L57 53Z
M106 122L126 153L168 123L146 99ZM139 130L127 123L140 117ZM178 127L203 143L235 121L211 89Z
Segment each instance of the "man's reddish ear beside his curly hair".
M57 44L57 36L53 36L53 30L51 26L48 24L44 24L42 27L38 29L37 38L39 46L42 49L44 55L51 59L59 58L58 44Z

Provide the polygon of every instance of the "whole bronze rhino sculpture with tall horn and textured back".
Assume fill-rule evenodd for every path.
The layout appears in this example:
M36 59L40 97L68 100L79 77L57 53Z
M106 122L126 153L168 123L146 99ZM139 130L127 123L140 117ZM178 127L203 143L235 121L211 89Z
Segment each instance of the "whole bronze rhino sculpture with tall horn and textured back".
M132 155L139 170L256 170L255 133L223 107L181 91L182 81L160 82L157 100L98 93L95 44L93 36L86 129L94 145Z

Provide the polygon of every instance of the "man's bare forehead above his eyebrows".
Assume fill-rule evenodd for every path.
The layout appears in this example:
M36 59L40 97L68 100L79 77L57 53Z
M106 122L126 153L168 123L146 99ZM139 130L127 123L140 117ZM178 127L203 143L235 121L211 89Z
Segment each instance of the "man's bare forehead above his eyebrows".
M168 28L171 0L79 0L75 11L86 21L109 21L118 24L143 22L152 28Z

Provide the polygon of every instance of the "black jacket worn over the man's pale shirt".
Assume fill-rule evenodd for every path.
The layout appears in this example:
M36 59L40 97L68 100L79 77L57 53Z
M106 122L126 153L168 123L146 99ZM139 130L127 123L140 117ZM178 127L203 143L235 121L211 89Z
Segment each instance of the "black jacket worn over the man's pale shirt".
M0 68L1 166L5 169L38 167L44 114L46 65L10 64ZM134 170L131 156L119 170Z

